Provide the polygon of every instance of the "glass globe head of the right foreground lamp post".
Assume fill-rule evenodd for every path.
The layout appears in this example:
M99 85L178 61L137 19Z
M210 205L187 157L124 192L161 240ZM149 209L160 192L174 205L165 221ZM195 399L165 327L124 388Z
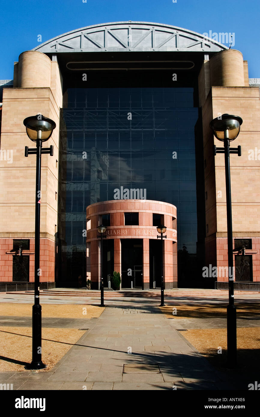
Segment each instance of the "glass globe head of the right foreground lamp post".
M225 139L234 141L240 132L242 123L241 117L225 113L220 118L213 119L210 122L210 128L219 141L224 141Z

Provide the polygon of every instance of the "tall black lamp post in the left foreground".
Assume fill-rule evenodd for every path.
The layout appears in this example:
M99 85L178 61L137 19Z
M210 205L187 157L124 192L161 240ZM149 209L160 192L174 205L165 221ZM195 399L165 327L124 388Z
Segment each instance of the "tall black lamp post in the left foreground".
M41 305L40 305L40 166L41 154L49 153L53 156L53 146L43 148L42 143L48 141L56 123L47 117L38 114L24 119L26 133L31 141L36 143L35 148L25 146L25 156L36 154L36 187L35 187L35 263L34 263L34 305L33 305L33 359L28 369L43 369L46 367L41 357Z

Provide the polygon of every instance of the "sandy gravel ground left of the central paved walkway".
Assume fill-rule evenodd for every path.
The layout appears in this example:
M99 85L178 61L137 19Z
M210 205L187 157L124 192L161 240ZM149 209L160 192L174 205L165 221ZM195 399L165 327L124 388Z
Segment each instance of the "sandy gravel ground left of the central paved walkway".
M99 317L104 307L92 305L43 304L42 317L90 319ZM0 315L30 317L32 304L0 304ZM42 361L49 371L85 333L78 329L42 328ZM3 358L3 359L2 359ZM10 360L6 360L10 359ZM31 327L0 326L0 372L25 371L32 360ZM43 372L43 371L40 371Z

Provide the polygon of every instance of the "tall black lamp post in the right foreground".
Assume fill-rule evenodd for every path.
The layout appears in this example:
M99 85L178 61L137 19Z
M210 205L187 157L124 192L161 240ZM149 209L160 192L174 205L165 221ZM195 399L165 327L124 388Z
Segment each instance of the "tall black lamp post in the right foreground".
M230 148L230 141L234 141L240 132L242 119L239 116L222 114L210 122L215 137L224 142L224 149L214 145L214 155L225 153L225 177L227 197L227 254L228 254L228 292L229 304L227 306L227 364L235 367L237 363L237 313L234 303L234 271L233 271L233 239L232 239L232 210L230 186L230 153L241 156L241 146Z

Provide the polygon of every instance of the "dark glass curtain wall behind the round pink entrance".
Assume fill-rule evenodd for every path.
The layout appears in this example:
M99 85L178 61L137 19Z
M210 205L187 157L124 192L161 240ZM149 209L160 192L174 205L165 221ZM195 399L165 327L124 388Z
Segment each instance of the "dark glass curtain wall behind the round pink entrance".
M115 188L177 206L178 249L196 253L197 202L193 88L69 88L61 109L60 271L84 275L86 207Z

